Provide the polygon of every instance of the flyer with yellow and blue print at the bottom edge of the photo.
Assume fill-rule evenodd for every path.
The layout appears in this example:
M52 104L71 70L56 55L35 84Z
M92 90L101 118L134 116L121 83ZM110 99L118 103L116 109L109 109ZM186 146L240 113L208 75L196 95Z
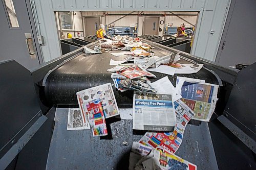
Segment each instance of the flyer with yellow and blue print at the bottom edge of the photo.
M154 170L197 170L197 165L190 163L177 155L168 154L154 150L153 169Z

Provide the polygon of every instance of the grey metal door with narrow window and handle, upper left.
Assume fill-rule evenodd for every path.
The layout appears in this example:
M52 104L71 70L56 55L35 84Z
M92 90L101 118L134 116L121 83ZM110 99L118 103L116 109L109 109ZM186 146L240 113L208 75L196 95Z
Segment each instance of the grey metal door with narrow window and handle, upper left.
M42 63L40 47L33 36L32 27L35 30L35 26L31 16L28 0L3 0L0 3L1 60L14 59L28 69Z

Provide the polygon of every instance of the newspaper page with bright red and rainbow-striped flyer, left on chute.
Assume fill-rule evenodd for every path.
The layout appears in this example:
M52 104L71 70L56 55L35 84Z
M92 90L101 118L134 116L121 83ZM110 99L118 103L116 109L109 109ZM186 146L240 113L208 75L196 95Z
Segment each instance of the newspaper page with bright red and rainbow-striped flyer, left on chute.
M111 83L78 91L76 95L84 122L90 123L94 135L106 135L105 118L119 115Z

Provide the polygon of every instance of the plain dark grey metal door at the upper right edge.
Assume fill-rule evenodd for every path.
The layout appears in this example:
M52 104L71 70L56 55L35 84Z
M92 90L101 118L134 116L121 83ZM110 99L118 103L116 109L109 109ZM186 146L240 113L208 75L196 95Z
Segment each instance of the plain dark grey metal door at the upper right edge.
M256 27L256 1L232 1L231 6L216 62L227 67L237 63L252 64L256 62L253 31Z

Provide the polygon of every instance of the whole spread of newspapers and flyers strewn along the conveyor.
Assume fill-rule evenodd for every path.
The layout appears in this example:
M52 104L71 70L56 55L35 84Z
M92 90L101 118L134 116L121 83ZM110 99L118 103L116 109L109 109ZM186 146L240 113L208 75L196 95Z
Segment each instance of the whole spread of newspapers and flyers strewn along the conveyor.
M218 100L219 86L178 76L175 87L168 76L151 83L149 79L156 76L149 71L189 74L198 72L202 65L178 63L179 53L157 57L153 47L139 38L116 36L114 40L100 40L94 50L84 48L89 54L116 49L129 51L111 53L116 57L127 55L127 59L110 61L110 65L115 66L108 71L112 72L111 78L118 90L134 91L133 129L148 131L133 143L129 169L196 169L196 165L174 154L190 119L209 121ZM131 61L133 63L126 63ZM160 69L162 66L166 68ZM120 114L111 83L78 91L77 99L80 114L77 110L69 112L68 130L78 124L78 129L92 129L94 136L108 135L105 119ZM73 119L76 115L81 120L72 122L70 114Z

